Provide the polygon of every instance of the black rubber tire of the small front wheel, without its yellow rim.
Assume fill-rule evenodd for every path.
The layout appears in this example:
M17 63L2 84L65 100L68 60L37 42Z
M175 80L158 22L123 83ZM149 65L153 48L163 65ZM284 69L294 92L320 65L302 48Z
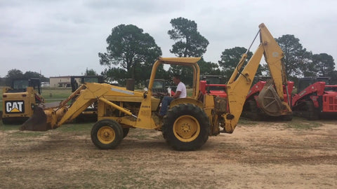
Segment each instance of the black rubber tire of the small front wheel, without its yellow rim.
M103 144L98 140L98 130L100 130L100 128L104 126L109 126L114 130L115 139L110 144ZM93 125L93 128L91 129L91 141L93 141L93 144L95 144L95 146L103 150L116 148L121 143L121 140L124 138L123 135L124 133L121 125L119 125L119 123L117 123L115 120L99 120L95 123L95 125Z

